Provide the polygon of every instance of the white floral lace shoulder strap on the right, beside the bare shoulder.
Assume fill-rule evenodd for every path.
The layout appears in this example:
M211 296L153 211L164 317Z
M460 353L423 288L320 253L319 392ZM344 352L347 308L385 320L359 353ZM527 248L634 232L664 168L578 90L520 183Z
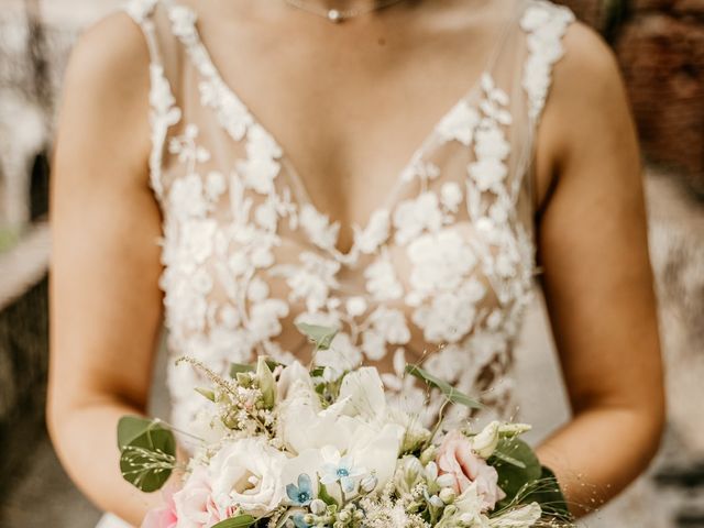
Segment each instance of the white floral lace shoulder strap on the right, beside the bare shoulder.
M528 96L528 116L535 123L540 120L548 99L552 67L564 54L562 37L574 20L569 8L547 0L530 0L520 19L528 47L522 87Z

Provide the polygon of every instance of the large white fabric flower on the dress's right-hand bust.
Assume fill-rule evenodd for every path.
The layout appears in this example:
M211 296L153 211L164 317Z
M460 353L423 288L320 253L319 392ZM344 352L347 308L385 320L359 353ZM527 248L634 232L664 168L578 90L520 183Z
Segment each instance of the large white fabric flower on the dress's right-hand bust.
M476 264L472 249L452 229L419 237L407 253L413 265L410 284L421 296L457 289Z

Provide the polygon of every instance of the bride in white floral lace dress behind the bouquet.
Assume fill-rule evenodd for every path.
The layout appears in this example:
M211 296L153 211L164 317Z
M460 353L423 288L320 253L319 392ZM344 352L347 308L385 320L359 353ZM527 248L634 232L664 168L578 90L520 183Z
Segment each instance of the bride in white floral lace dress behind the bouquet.
M139 525L158 499L122 481L114 431L145 411L163 316L172 356L221 372L300 358L295 322L336 326L319 361L375 364L418 410L399 365L424 362L507 418L536 277L573 410L542 462L578 515L648 464L663 395L638 146L613 55L566 8L135 0L65 82L48 424L102 509ZM194 376L169 366L176 427Z

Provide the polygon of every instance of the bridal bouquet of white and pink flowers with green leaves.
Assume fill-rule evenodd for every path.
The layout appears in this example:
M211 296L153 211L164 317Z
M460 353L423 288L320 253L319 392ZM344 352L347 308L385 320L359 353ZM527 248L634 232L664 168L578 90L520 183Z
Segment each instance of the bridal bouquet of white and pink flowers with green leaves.
M316 352L336 333L299 329ZM233 364L226 378L179 361L211 385L194 387L210 402L199 431L176 431L197 439L190 460L176 460L175 431L161 420L123 417L118 426L123 477L164 493L143 528L571 526L554 475L519 438L530 427L493 421L474 431L468 421L446 430L449 406L481 404L420 366L407 365L407 375L444 397L430 428L387 403L374 367L260 358Z

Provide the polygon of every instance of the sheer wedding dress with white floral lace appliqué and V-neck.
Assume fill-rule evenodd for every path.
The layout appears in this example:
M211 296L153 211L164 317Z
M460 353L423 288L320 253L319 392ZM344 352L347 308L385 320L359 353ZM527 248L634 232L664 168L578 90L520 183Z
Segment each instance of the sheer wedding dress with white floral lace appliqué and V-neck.
M536 129L574 16L543 0L488 4L496 31L482 74L345 252L275 131L221 77L198 13L176 0L128 4L151 54L151 187L164 218L172 358L223 374L257 354L288 362L307 346L295 322L333 326L332 349L317 361L345 369L393 358L384 383L406 408L438 408L403 376L406 362L422 361L490 414L514 410L512 346L536 274ZM205 405L199 384L169 362L177 428Z

